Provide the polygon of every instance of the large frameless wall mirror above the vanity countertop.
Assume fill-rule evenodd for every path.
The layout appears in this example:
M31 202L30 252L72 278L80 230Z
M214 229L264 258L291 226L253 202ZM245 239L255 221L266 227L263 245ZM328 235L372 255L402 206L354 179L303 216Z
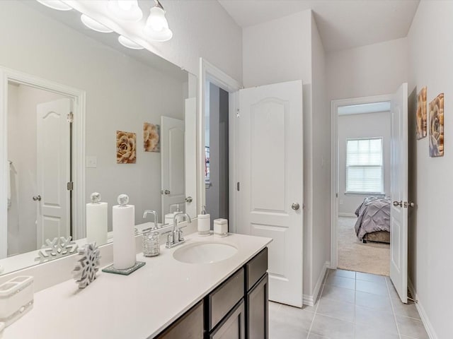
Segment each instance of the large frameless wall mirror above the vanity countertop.
M195 217L196 77L76 11L4 0L0 22L0 274L39 262L47 240L84 244L93 192L108 239L119 194L138 230L144 210Z

